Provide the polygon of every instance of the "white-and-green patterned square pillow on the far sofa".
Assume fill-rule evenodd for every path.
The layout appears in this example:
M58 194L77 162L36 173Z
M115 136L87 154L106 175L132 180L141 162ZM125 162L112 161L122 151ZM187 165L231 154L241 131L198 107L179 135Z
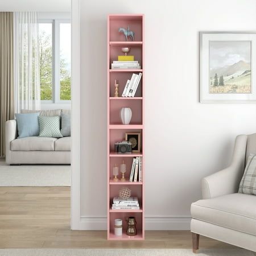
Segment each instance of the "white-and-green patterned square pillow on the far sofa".
M39 121L39 137L53 137L61 138L63 135L60 133L60 117L38 117Z

